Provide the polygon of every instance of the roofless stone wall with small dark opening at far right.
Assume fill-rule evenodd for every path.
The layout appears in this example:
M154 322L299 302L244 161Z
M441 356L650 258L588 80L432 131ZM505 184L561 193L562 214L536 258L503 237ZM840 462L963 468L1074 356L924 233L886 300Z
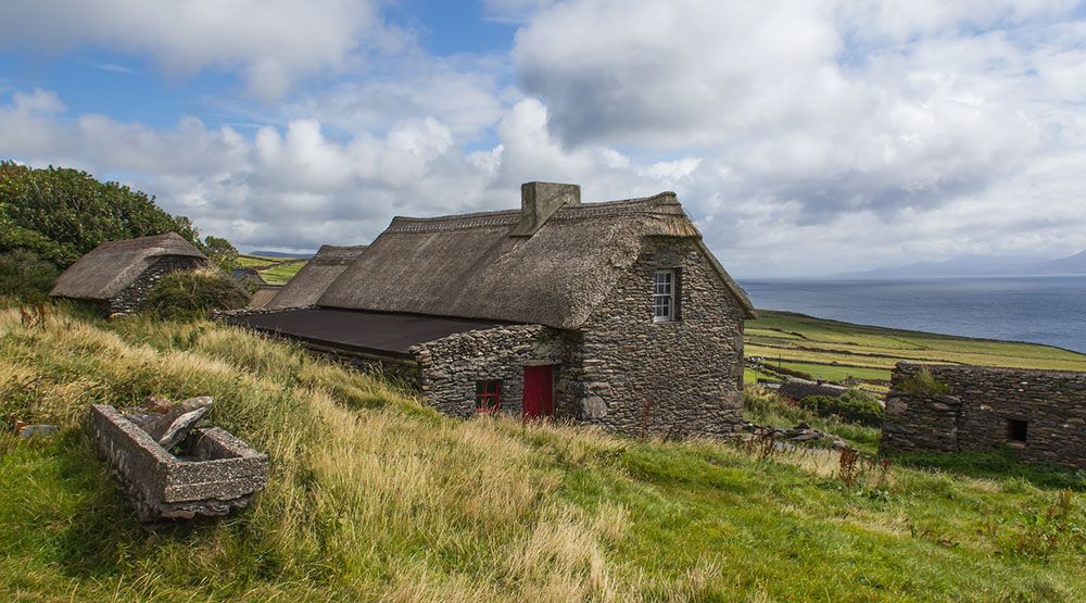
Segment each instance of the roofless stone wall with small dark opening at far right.
M949 395L900 391L926 369ZM1011 437L1024 422L1025 440ZM1009 445L1023 461L1086 468L1086 373L899 363L886 399L885 451L983 451Z

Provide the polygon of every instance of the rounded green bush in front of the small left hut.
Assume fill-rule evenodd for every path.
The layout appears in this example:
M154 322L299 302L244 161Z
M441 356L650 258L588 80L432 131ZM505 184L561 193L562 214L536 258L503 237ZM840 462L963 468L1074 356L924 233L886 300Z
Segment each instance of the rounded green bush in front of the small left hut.
M216 271L182 271L162 277L141 310L165 318L185 318L244 307L248 302L245 293Z

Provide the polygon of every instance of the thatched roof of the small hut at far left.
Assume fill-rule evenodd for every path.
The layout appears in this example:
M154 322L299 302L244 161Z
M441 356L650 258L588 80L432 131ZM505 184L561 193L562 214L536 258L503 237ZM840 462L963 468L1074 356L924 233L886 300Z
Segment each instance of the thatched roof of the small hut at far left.
M206 260L200 250L176 233L106 242L68 266L56 279L50 294L77 300L108 300L164 256Z

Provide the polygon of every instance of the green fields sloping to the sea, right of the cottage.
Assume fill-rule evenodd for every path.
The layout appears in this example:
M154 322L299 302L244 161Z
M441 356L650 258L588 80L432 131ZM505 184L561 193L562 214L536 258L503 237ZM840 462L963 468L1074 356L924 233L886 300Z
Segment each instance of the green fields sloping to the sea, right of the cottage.
M901 360L1012 368L1086 370L1086 354L1059 348L851 325L788 312L759 311L746 324L746 356L839 381L883 386ZM765 376L765 375L762 375ZM755 377L748 372L748 380ZM884 389L884 388L883 388Z

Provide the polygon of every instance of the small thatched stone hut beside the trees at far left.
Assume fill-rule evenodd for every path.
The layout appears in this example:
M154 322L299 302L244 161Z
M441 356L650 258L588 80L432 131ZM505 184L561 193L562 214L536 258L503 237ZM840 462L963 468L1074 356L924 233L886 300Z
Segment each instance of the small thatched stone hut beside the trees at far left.
M93 304L106 316L130 314L163 276L203 268L218 271L176 233L105 242L68 266L49 294Z

